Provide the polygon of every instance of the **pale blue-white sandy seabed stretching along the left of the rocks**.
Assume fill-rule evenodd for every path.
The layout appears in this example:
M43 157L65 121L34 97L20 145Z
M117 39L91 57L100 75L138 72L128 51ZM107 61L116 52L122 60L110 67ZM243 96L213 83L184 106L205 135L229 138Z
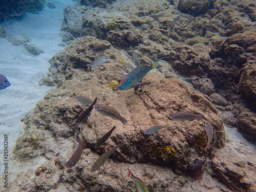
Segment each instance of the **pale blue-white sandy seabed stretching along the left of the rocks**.
M25 127L20 119L35 108L36 102L44 99L51 88L39 86L40 78L45 77L50 66L48 60L63 49L59 36L63 22L63 9L74 5L72 0L48 1L56 8L47 6L39 14L26 13L19 20L5 20L0 23L7 37L15 34L26 35L30 42L45 53L38 56L30 54L23 46L13 46L6 38L0 38L0 74L6 76L11 86L0 90L0 155L3 158L4 134L9 135L8 151L12 156L15 141L23 134ZM3 166L0 166L2 169ZM2 173L2 170L0 170Z

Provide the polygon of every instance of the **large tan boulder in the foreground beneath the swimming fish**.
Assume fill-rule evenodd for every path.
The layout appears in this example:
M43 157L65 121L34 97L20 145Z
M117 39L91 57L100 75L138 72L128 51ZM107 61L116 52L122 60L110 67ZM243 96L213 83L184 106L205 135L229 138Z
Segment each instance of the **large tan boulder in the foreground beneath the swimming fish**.
M203 167L209 168L205 165L206 160L210 161L211 158L203 150L207 141L205 120L210 121L215 130L214 139L207 151L214 152L217 148L224 147L224 127L214 105L182 81L177 78L163 78L154 72L156 70L143 78L138 92L133 89L113 91L106 87L106 84L111 80L120 81L122 75L119 72L113 73L108 67L108 62L104 63L103 71L93 68L91 73L78 65L79 57L80 61L82 58L87 61L95 54L84 54L93 44L97 44L93 37L79 38L54 56L49 76L56 80L52 75L58 73L58 79L63 82L58 89L46 95L45 100L38 102L36 108L22 120L26 124L26 133L17 140L15 158L17 161L33 161L36 164L28 170L31 174L36 172L32 182L27 178L28 175L20 173L23 175L23 185L26 185L28 190L38 187L41 190L59 187L60 190L64 185L72 190L88 188L89 191L131 191L135 186L124 177L126 168L129 168L146 183L148 189L172 191L174 186L168 184L170 181L177 183L175 188L179 190L184 187L176 181L175 174L186 175L178 176L179 180L189 178L187 175L202 175ZM84 50L83 54L80 49ZM118 64L115 58L120 55L120 51L111 48L106 50L104 55L110 58L112 65ZM83 68L88 67L87 62L83 65ZM86 122L76 124L75 119L87 106L81 105L75 99L75 93L90 98L97 97L99 102L113 106L128 120L127 125L102 116L95 110ZM170 120L169 116L178 111L200 113L203 114L203 119ZM148 127L168 123L170 127L167 129L153 135L143 134ZM117 129L111 138L95 149L97 140L113 125L116 125ZM64 167L74 152L74 146L77 145L76 134L86 141L87 148L78 165L67 170ZM112 160L107 161L98 172L90 173L89 170L99 155L117 143L121 143L121 146L110 157ZM166 146L173 147L176 154L164 158L163 154L157 153L159 147ZM203 177L210 179L208 176ZM109 182L110 180L112 181ZM212 184L205 185L207 188ZM203 188L201 190L206 190Z

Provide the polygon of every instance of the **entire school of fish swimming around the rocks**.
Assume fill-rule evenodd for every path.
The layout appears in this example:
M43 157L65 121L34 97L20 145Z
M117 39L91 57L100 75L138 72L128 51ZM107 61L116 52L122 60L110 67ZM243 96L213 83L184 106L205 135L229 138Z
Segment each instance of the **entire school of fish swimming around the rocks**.
M174 28L174 24L175 22L177 22L177 20L180 18L180 16L176 17L172 24L170 25L170 30L173 30ZM99 52L103 52L105 49L110 49L110 45L109 46L105 46L105 45L97 45L95 47L92 48L92 51L95 53L99 53ZM131 46L131 53L132 53L132 57L133 57L133 61L136 67L133 67L132 65L130 65L129 63L126 63L125 61L123 61L123 58L121 58L121 63L123 63L124 66L126 66L128 69L132 70L130 73L128 74L123 74L123 78L120 81L120 83L118 84L118 90L129 90L132 88L138 89L138 86L140 84L142 84L141 80L143 79L143 77L151 70L153 69L158 69L160 67L160 65L158 65L158 62L162 59L164 59L164 57L157 59L154 63L152 63L152 65L139 65L139 59L138 56L136 54L136 52L132 49ZM101 66L104 62L108 61L109 58L108 57L98 57L96 60L93 61L92 65L90 66L90 72L92 70L92 68L94 67L98 67ZM111 66L113 69L122 72L119 68L115 67L115 66ZM0 82L2 82L2 79L6 79L3 77L1 77L0 75ZM1 81L2 80L2 81ZM7 80L7 79L6 79ZM7 80L7 84L6 87L8 87L8 80ZM3 84L3 82L2 82ZM1 89L1 85L0 84L0 89ZM10 84L9 84L10 86ZM5 89L6 87L2 88ZM91 112L93 111L93 109L95 109L95 111L99 112L101 115L104 116L108 116L111 117L114 120L119 120L122 122L123 125L127 124L127 120L122 117L120 115L120 113L114 109L112 106L110 105L105 105L105 104L99 104L97 101L97 98L95 98L94 100L88 97L84 97L84 96L76 96L77 101L79 101L81 104L84 105L90 105L89 108L87 108L83 113L81 113L78 118L75 120L76 123L81 123L86 121ZM185 121L185 120L201 120L203 118L202 114L194 114L192 112L178 112L175 114L170 115L169 117L170 119L176 120L176 121ZM144 131L145 135L151 135L151 134L155 134L156 132L160 131L163 128L167 128L167 127L171 127L171 124L166 124L166 125L155 125L152 126L148 129L146 129ZM114 132L114 130L116 129L116 126L113 126L112 129L107 132L105 135L103 135L95 144L95 148L101 146L106 140L108 140L108 138L110 138L110 136L112 135L112 133ZM210 124L209 121L205 121L205 131L206 131L206 135L207 135L207 146L204 148L204 150L207 150L207 148L209 147L213 136L214 136L214 129L212 127L212 125ZM82 155L82 151L84 149L84 146L86 146L86 143L83 143L84 140L82 141L80 139L80 137L77 135L76 136L76 141L78 142L78 147L76 149L76 151L74 152L74 154L71 156L71 158L69 159L69 161L67 162L67 169L73 168L80 160L80 157ZM121 147L121 144L117 144L115 147L113 147L111 150L106 151L105 153L103 153L92 165L90 172L96 172L104 163L105 161L111 156L112 153L114 153L114 151L117 150L117 148ZM129 170L129 169L128 169ZM138 177L135 177L131 170L129 170L129 174L128 177L130 177L139 192L148 192L149 190L146 187L146 184L139 179Z

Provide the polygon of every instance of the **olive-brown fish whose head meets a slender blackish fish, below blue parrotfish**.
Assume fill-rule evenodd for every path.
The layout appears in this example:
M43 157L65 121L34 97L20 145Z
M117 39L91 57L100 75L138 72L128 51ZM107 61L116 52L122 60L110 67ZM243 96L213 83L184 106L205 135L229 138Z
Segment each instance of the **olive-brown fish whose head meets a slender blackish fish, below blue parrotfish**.
M123 125L127 124L127 120L123 118L118 111L116 111L114 108L112 108L109 105L104 105L104 104L95 104L93 105L93 108L99 112L102 115L111 117L112 119L119 120L123 123Z

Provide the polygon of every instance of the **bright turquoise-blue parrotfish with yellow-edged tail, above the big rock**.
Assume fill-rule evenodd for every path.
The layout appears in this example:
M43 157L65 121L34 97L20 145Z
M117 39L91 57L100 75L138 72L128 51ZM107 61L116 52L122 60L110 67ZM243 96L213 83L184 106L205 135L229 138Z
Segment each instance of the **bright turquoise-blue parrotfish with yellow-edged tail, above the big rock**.
M119 90L128 90L135 88L138 84L141 84L142 78L152 69L159 68L160 65L157 65L158 61L162 58L157 59L152 65L142 65L135 68L133 71L125 75L121 82L118 84L117 89Z

